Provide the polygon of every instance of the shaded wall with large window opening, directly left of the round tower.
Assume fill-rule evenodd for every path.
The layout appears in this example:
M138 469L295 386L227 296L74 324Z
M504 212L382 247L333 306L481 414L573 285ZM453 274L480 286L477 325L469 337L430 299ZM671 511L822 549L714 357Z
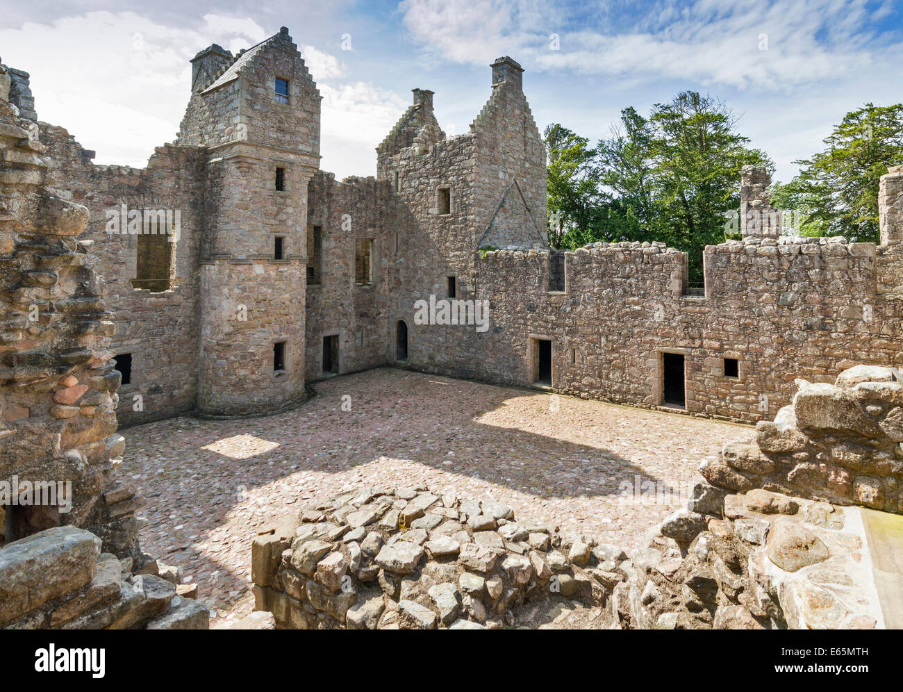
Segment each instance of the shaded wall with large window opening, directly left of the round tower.
M113 309L110 348L130 353L131 381L122 385L119 417L135 425L191 411L197 397L199 337L197 270L203 219L204 158L197 147L157 147L144 169L98 166L70 134L42 124L52 170L72 200L88 207L91 267L103 277ZM179 229L163 243L171 256L170 287L154 290L138 276L140 233L107 232L107 210L178 211ZM172 230L172 229L171 229ZM145 237L146 238L146 237Z

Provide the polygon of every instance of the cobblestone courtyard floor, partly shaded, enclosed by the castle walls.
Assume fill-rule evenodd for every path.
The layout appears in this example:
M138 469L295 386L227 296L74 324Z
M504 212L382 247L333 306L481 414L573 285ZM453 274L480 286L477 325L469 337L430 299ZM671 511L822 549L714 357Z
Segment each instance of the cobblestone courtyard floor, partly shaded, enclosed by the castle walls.
M184 416L126 431L123 475L148 501L143 547L184 567L216 613L211 626L251 612L256 528L305 500L349 486L427 483L629 549L687 500L702 480L699 463L749 434L740 425L398 369L315 388L312 400L277 416ZM643 499L623 500L638 480ZM655 503L650 482L665 490Z

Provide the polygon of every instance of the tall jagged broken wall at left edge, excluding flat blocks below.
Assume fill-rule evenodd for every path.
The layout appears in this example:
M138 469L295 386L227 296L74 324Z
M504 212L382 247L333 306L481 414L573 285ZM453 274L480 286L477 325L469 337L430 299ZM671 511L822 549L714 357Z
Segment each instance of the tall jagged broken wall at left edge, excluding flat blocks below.
M0 65L0 481L7 490L70 482L71 492L55 503L7 498L5 540L68 524L96 533L108 552L137 555L142 500L115 476L125 441L116 434L114 326L78 239L88 210L52 187L48 149L10 104L9 85Z

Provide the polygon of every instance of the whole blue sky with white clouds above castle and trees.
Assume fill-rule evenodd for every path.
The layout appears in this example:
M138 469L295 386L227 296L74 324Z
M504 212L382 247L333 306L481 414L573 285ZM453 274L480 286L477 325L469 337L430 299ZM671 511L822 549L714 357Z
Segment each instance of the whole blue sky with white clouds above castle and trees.
M321 166L339 177L375 172L374 147L415 87L436 92L448 134L466 132L489 98L489 63L506 54L526 69L540 128L595 140L621 108L647 114L695 89L733 109L782 181L847 111L903 101L903 3L891 0L82 1L5 16L0 58L31 72L39 117L97 150L97 163L141 166L172 140L201 48L238 51L282 25L321 89Z

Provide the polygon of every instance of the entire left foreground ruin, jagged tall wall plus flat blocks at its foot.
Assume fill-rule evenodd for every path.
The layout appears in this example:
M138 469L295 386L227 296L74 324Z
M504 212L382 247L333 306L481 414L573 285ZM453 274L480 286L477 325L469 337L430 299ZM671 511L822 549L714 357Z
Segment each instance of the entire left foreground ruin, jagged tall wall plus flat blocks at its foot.
M196 587L138 545L88 209L55 187L23 74L11 89L0 64L0 628L207 629Z

